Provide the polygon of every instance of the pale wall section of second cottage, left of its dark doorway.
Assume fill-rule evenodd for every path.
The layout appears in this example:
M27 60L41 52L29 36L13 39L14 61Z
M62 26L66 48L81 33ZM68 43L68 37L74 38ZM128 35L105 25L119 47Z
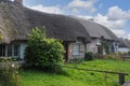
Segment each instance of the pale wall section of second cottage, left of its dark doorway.
M87 44L87 52L92 52L93 54L98 53L98 39L92 39L91 43Z

